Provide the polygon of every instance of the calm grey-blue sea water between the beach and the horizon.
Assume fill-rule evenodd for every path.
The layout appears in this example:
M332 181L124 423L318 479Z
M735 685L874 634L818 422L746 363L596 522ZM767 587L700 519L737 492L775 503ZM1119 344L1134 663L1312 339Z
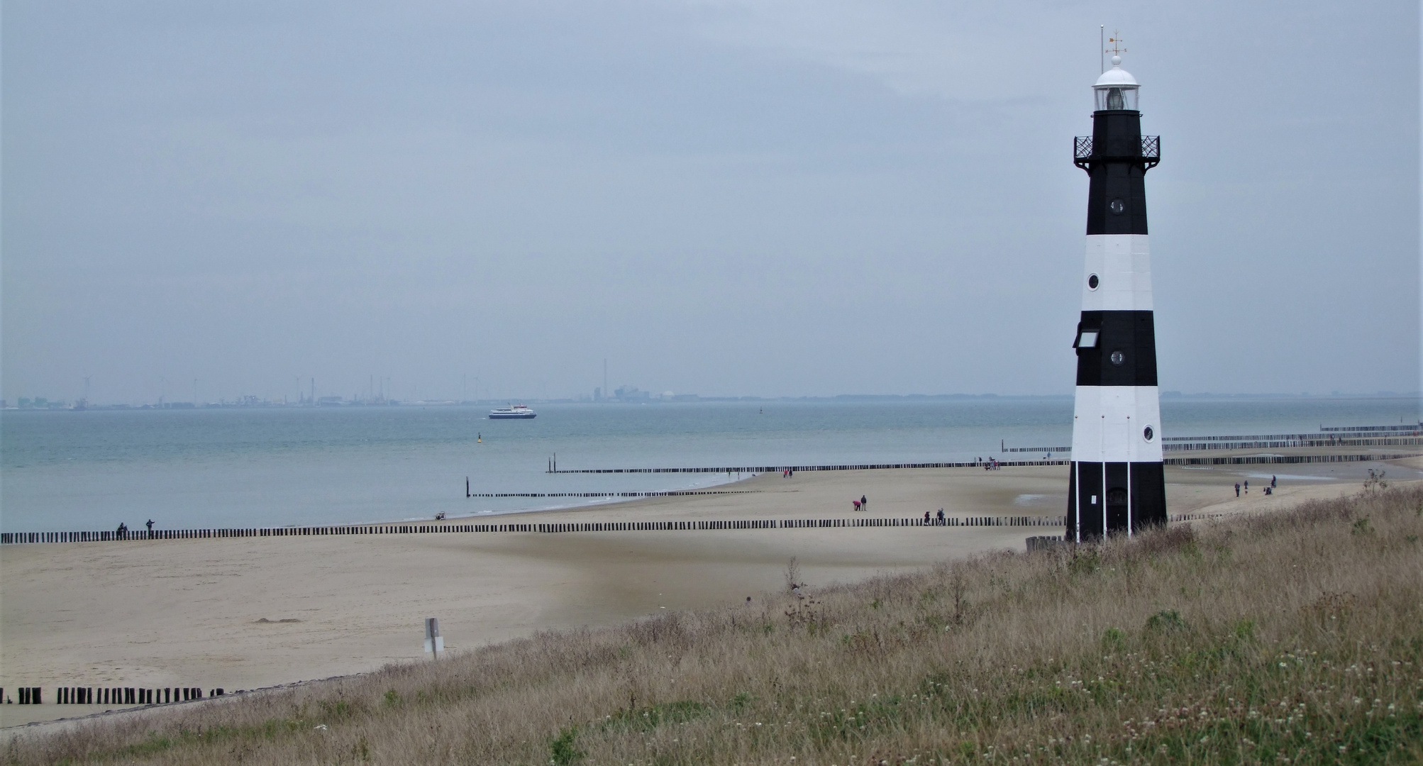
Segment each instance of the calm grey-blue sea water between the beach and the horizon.
M696 490L737 474L558 467L938 463L1072 441L1072 399L770 400L488 407L0 413L0 530L275 527L598 503L474 493ZM1417 399L1165 399L1163 436L1416 423ZM1054 458L1067 457L1054 454Z

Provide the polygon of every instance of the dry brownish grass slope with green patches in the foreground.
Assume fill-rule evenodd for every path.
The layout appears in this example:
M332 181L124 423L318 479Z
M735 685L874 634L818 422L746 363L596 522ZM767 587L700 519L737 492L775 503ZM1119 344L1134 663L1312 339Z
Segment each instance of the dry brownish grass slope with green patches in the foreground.
M1423 487L11 743L7 763L1419 763Z

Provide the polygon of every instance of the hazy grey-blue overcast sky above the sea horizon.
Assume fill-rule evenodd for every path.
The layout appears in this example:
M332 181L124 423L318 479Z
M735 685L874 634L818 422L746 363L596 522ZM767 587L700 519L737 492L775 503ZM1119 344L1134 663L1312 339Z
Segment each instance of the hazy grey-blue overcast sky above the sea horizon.
M1414 1L3 13L11 403L1070 393L1099 24L1161 387L1419 389Z

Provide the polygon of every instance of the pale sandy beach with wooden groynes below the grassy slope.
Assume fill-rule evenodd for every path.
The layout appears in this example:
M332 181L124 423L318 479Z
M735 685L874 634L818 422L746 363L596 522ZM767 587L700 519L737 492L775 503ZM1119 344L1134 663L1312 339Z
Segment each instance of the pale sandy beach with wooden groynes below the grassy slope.
M1379 464L1372 464L1377 467ZM1173 514L1252 513L1358 490L1369 464L1279 466L1279 490L1235 498L1272 466L1168 468ZM1416 480L1419 458L1386 466ZM1264 471L1261 470L1264 468ZM1284 471L1284 470L1288 470ZM1251 478L1262 487L1268 478ZM1066 467L761 476L746 494L659 497L542 511L538 521L1043 515L1063 513ZM729 487L729 488L733 488ZM508 518L508 517L505 517ZM1022 550L1050 527L351 535L13 545L0 550L0 725L97 712L51 705L53 688L252 689L421 662L421 625L448 651L743 602L784 587L795 557L811 588ZM1059 532L1060 534L1060 532ZM285 622L283 622L285 621Z

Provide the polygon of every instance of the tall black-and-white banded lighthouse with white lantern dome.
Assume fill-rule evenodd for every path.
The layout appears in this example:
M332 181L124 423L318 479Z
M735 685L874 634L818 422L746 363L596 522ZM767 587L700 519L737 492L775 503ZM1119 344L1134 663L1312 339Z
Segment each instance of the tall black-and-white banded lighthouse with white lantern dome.
M1133 534L1165 523L1146 174L1161 159L1141 135L1137 80L1113 56L1093 85L1091 135L1073 161L1091 179L1081 273L1067 540Z

